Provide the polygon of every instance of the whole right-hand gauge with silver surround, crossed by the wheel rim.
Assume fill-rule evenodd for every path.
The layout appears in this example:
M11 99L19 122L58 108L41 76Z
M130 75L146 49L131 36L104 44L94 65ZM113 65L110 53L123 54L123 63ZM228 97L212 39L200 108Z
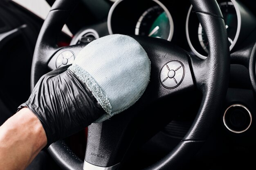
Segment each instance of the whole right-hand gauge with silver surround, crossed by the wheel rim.
M229 50L232 52L233 48L255 29L256 19L249 9L238 0L217 0L217 2L227 29ZM201 59L207 59L209 42L192 5L186 17L186 38L191 53Z

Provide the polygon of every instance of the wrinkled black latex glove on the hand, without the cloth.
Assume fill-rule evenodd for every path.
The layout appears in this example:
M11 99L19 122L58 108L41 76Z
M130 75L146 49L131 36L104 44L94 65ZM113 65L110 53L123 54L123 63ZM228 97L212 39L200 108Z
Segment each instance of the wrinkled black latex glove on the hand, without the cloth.
M67 68L41 77L27 102L18 108L29 108L41 121L46 147L82 130L105 113L88 87Z

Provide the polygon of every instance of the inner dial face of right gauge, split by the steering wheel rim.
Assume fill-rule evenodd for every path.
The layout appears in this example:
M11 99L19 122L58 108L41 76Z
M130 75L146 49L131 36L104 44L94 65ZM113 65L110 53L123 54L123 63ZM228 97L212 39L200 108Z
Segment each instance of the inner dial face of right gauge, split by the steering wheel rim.
M232 2L222 2L219 4L219 6L226 24L227 36L230 47L236 37L236 31L238 27L236 9ZM198 39L204 51L208 53L209 42L206 37L206 33L204 32L204 29L202 29L201 24L199 24L198 27Z

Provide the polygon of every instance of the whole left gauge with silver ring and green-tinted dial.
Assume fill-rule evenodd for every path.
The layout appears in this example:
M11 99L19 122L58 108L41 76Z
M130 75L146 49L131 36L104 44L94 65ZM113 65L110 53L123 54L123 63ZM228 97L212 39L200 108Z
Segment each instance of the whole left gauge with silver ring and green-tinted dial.
M117 0L110 8L107 24L110 35L139 35L171 41L174 31L171 13L159 0Z

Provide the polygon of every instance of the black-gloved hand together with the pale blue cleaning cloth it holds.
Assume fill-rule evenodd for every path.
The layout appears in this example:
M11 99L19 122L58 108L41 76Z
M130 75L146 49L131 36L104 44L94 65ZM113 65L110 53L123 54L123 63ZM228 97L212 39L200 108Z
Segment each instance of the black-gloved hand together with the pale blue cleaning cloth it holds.
M102 122L133 105L150 79L145 50L126 35L92 41L72 66L45 74L27 102L41 121L47 146L92 122Z

